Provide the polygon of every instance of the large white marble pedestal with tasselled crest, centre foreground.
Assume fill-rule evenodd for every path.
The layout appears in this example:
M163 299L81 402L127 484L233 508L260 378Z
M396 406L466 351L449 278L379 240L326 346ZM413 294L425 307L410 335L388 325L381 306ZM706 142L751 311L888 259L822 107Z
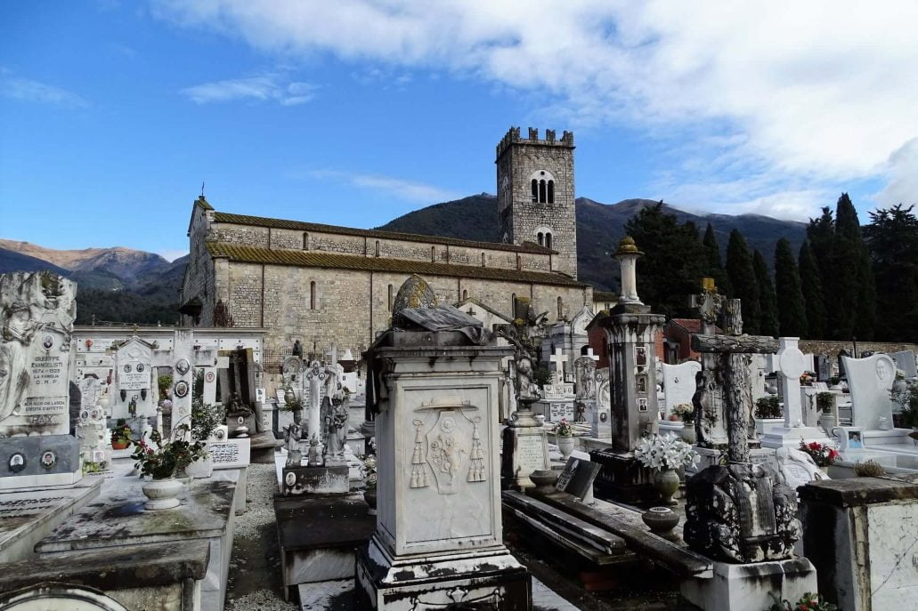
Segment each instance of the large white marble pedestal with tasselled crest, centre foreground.
M457 331L391 329L365 353L382 390L360 608L530 608L531 577L502 542L496 412L510 351Z

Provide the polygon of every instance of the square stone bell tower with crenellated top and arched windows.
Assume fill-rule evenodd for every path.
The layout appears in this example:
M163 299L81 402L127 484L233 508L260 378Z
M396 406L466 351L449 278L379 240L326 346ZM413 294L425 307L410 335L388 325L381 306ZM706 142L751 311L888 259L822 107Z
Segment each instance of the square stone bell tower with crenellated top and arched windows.
M510 128L498 144L498 215L502 241L533 242L557 254L552 270L577 278L577 212L574 203L574 133Z

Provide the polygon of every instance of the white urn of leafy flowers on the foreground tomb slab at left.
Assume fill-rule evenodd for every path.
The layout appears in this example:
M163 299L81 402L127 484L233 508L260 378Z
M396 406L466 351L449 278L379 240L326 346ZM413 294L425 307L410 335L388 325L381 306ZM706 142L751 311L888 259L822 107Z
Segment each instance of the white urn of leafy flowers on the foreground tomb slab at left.
M172 509L179 505L177 495L183 484L175 479L175 473L185 469L201 457L204 444L200 441L188 441L188 425L182 425L174 431L174 439L163 442L158 430L153 430L150 440L140 438L134 441L135 450L131 455L140 476L149 478L140 489L147 497L144 505L150 510Z

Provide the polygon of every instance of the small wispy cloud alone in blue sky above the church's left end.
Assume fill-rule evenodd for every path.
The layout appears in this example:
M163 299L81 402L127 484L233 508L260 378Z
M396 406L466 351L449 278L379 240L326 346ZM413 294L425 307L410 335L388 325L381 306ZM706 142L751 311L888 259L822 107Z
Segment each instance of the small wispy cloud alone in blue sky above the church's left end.
M264 74L241 79L203 83L182 90L196 104L256 100L276 102L281 106L306 104L316 96L318 85L288 82L280 73Z

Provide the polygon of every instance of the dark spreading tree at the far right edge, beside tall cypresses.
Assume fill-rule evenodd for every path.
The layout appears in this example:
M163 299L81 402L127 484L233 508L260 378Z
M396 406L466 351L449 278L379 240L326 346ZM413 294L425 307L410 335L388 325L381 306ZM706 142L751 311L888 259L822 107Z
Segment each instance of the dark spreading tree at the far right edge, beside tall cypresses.
M870 213L864 228L877 285L877 339L918 341L918 217L901 204Z

